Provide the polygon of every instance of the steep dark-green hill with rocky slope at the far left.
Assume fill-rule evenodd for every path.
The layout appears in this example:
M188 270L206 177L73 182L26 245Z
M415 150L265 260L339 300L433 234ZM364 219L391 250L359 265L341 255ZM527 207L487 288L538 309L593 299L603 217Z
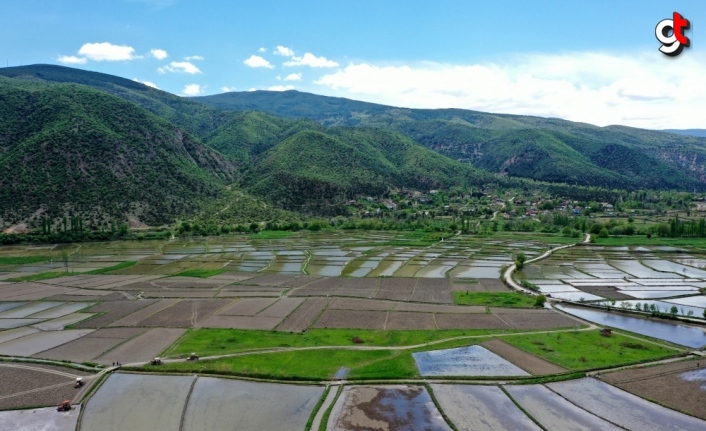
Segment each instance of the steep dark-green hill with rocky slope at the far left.
M0 217L157 224L224 195L223 156L135 104L75 84L0 77ZM58 221L57 221L58 222Z

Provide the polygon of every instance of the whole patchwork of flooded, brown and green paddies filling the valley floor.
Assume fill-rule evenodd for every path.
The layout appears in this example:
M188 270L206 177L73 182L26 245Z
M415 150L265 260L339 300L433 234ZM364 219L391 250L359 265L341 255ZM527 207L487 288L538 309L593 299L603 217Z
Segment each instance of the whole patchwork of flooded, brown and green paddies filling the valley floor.
M567 241L335 232L1 247L0 423L706 429L706 332L648 318L703 320L703 249L558 250L515 273L575 303L553 308L500 279L516 253ZM622 331L604 338L589 322ZM40 409L64 398L73 410Z

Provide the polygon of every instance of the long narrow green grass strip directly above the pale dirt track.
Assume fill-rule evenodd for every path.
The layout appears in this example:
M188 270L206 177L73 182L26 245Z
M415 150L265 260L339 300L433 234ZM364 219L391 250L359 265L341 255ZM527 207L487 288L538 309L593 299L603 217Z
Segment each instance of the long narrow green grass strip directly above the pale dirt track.
M426 331L373 331L356 329L310 329L303 334L276 331L252 331L243 329L197 329L189 330L163 356L188 355L197 352L201 356L224 355L247 350L273 347L315 346L414 346L430 341L464 335L491 335L518 331L498 329L426 330ZM363 343L354 343L359 337ZM468 344L469 341L461 341Z

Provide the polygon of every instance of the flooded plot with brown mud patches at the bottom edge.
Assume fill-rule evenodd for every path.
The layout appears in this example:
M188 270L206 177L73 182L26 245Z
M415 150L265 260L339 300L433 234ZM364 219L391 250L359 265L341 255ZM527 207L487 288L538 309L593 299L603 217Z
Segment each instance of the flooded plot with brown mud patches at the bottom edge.
M341 398L340 413L332 415L327 430L451 429L421 386L353 386Z

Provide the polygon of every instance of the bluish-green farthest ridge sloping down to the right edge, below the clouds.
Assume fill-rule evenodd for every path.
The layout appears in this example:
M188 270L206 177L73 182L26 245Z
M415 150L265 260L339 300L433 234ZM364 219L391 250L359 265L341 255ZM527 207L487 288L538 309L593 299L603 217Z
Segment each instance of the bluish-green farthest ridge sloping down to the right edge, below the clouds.
M396 131L492 173L602 187L703 189L706 139L624 126L462 109L406 109L298 91L196 97L219 109L258 110L324 126Z

